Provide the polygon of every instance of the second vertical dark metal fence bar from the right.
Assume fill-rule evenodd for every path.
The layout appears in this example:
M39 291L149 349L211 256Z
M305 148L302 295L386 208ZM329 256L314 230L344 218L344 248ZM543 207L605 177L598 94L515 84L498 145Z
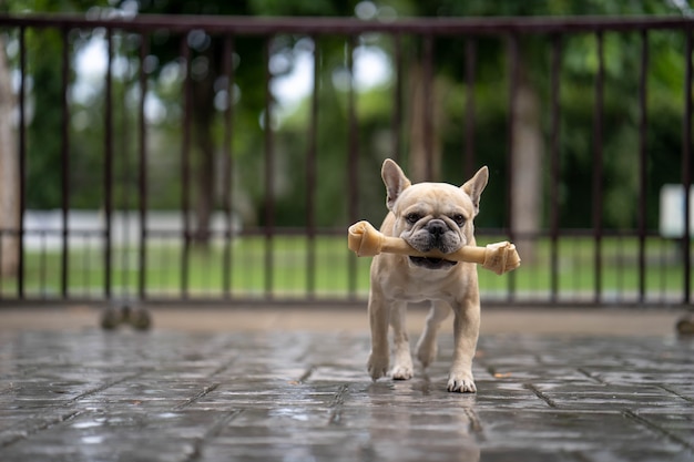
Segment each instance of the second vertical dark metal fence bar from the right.
M647 217L647 96L649 96L649 33L641 32L641 69L639 82L639 302L646 294L646 217Z

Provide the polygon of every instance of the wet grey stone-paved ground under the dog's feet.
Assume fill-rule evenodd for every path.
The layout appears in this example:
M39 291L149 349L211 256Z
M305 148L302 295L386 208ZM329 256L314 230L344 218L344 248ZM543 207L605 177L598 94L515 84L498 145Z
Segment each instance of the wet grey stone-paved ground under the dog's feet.
M371 382L364 333L0 332L0 461L691 461L694 342L450 336ZM412 339L412 342L416 339Z

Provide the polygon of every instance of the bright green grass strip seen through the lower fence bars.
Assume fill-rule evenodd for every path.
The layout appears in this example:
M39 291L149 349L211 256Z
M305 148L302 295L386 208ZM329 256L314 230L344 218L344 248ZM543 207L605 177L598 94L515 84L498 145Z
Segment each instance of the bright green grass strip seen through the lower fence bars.
M484 237L479 244L500 240ZM313 246L313 253L309 253ZM268 257L268 249L272 249ZM535 258L523 257L522 266L504 276L479 270L483 297L506 299L513 288L517 299L548 299L552 287L551 243L535 243ZM601 244L601 295L606 299L635 301L639 295L637 242L634 238L603 238ZM592 299L596 273L595 244L590 237L567 237L558 243L555 285L559 300ZM146 248L145 295L150 298L190 297L304 299L366 297L370 258L357 258L346 248L341 236L235 238L229 247L225 271L225 246L214 242L207 249L191 246L187 274L180 242L153 242ZM313 261L309 255L314 255ZM268 260L268 258L272 258ZM683 288L682 256L674 243L649 238L645 247L645 289L647 300L680 296ZM111 287L114 297L139 294L139 248L113 248ZM313 267L313 270L309 268ZM62 292L62 253L25 254L24 294L30 298L57 298ZM68 255L68 295L101 298L104 295L104 256L100 243L71 249ZM312 276L313 274L313 276ZM17 280L3 278L0 294L17 296Z

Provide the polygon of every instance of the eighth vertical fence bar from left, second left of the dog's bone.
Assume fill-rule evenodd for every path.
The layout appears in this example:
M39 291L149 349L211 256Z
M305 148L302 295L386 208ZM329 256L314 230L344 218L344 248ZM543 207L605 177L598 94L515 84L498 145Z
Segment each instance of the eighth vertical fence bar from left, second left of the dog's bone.
M314 89L308 127L308 153L306 154L306 289L308 298L316 291L316 144L318 134L318 89L320 79L320 52L317 38L314 41Z

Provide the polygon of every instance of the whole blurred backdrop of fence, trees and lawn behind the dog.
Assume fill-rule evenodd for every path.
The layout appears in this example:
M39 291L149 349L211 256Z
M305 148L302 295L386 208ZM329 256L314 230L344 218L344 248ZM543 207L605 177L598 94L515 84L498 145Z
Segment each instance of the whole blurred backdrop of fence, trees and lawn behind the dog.
M484 302L691 301L686 1L0 4L0 301L356 301L380 165L488 165Z

